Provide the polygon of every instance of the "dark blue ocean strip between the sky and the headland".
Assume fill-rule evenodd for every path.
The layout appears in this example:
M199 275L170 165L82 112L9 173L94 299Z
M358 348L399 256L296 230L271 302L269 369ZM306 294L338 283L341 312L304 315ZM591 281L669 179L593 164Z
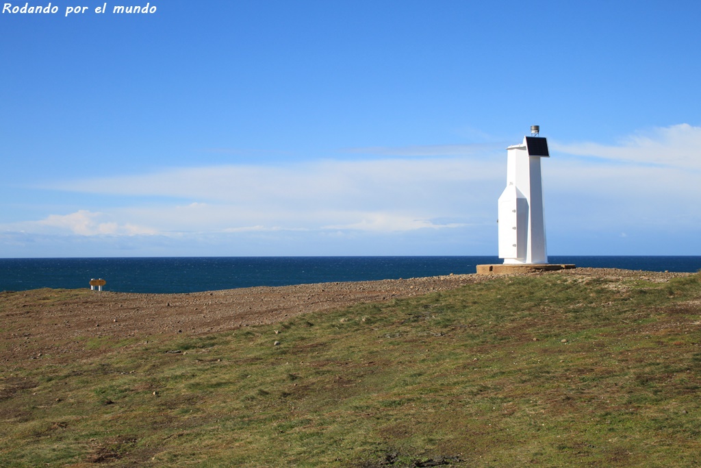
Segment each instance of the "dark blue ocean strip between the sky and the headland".
M557 256L551 263L654 272L697 272L701 256ZM475 273L496 257L203 257L203 258L6 258L0 259L0 291L88 288L123 293L196 291L287 286L335 281L416 278Z

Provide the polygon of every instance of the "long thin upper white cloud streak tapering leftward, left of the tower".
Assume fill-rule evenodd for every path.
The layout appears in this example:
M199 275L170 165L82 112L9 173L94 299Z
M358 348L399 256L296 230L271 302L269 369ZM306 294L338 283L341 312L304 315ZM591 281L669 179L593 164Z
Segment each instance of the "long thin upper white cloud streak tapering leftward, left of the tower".
M279 201L280 197L362 197L372 185L380 192L399 190L411 197L409 187L421 189L426 183L492 180L499 166L496 160L462 158L322 160L286 166L168 168L149 174L57 182L41 188L121 196Z

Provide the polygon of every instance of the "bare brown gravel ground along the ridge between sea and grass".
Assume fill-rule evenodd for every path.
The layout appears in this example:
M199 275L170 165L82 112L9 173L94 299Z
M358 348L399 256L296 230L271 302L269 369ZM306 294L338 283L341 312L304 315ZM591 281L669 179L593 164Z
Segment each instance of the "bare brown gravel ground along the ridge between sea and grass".
M636 272L620 269L577 268L566 276L611 279L637 277L663 282L686 273ZM469 283L493 276L451 274L428 278L318 283L297 286L240 288L205 293L132 294L103 291L79 298L57 299L60 290L0 293L0 362L46 365L87 359L106 352L86 347L86 339L109 337L130 342L158 335L199 335L261 323L275 323L306 312L346 307L358 302L381 302ZM79 339L80 338L80 339ZM133 344L132 344L133 345Z

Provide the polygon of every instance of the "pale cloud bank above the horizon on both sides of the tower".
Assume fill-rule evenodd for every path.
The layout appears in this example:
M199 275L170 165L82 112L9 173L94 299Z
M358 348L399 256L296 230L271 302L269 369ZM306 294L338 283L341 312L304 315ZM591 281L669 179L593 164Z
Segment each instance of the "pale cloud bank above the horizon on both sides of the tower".
M583 236L589 236L593 247L597 239L605 243L611 236L634 239L635 232L664 232L674 239L676 230L686 239L699 231L701 127L683 123L652 128L622 138L618 145L549 142L552 157L543 161L543 178L551 246L577 253ZM230 255L244 255L240 250L247 249L256 255L280 255L279 250L266 250L266 245L284 237L287 241L280 246L306 242L303 252L313 253L315 236L323 235L328 243L318 255L335 251L343 255L349 242L358 242L355 250L350 249L358 252L361 242L372 243L377 236L401 243L405 234L423 232L428 233L423 239L432 245L427 252L431 254L442 250L434 245L440 242L429 241L428 236L451 231L443 248L455 248L465 239L463 250L455 255L496 252L496 199L505 180L503 147L351 151L377 156L277 166L168 168L58 181L39 188L57 197L67 192L107 197L112 207L76 206L39 220L6 223L0 225L4 231L0 241L12 255L52 236L62 242L75 236L103 238L107 243L151 238L144 245L161 243L166 246L163 252L175 240L204 239L205 246L217 246L239 239L240 249L231 248ZM421 245L421 235L411 239L405 250ZM209 252L205 248L203 255Z

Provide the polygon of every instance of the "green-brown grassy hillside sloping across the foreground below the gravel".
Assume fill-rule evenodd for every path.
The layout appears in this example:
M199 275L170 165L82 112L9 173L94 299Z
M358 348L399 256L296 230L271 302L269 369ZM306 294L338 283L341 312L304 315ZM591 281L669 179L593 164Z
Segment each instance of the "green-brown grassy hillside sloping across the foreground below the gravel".
M504 277L1 362L0 466L696 467L700 279Z

